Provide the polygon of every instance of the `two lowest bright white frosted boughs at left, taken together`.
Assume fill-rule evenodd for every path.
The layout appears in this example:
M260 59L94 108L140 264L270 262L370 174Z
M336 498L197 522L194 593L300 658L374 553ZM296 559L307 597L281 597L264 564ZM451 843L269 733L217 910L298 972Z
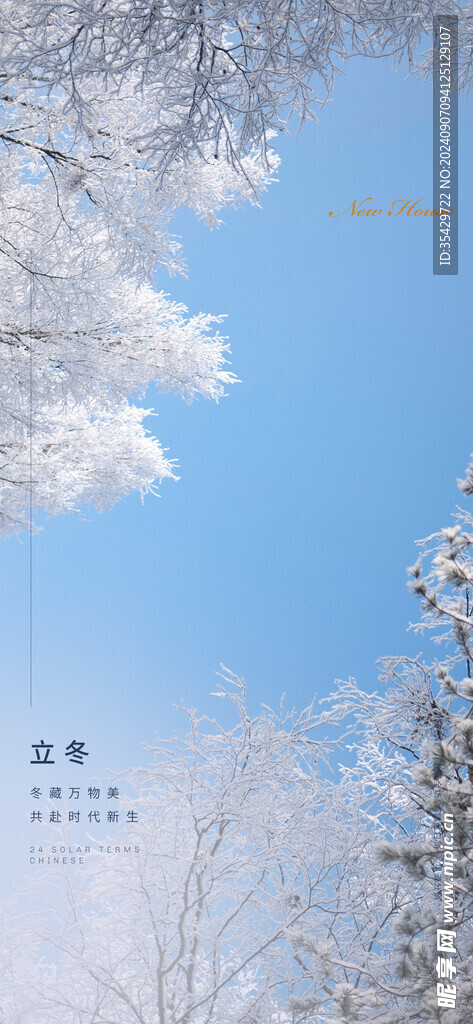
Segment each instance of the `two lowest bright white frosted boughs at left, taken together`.
M111 260L84 272L79 291L68 280L54 307L40 279L32 295L28 272L0 263L0 534L26 528L32 511L102 510L153 492L171 463L128 396L155 385L218 400L233 379L212 332L221 317L187 316L149 285L114 275Z

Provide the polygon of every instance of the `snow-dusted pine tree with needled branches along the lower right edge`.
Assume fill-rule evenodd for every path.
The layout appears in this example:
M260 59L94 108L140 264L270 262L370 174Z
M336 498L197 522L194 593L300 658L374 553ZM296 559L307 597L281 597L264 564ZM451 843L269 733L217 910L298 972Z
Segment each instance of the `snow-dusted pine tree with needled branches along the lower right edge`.
M460 486L473 493L473 463ZM383 658L381 694L349 680L331 698L352 731L354 763L342 768L347 801L373 833L354 871L342 872L342 923L328 914L316 936L297 935L311 979L296 1004L299 1020L472 1019L473 516L458 509L455 520L420 542L410 569L422 601L413 629L432 637L441 657L431 666ZM455 932L446 959L457 973L445 979L437 970L438 929ZM338 998L327 992L328 978ZM437 984L445 983L457 989L455 1006L451 995L438 1001Z

